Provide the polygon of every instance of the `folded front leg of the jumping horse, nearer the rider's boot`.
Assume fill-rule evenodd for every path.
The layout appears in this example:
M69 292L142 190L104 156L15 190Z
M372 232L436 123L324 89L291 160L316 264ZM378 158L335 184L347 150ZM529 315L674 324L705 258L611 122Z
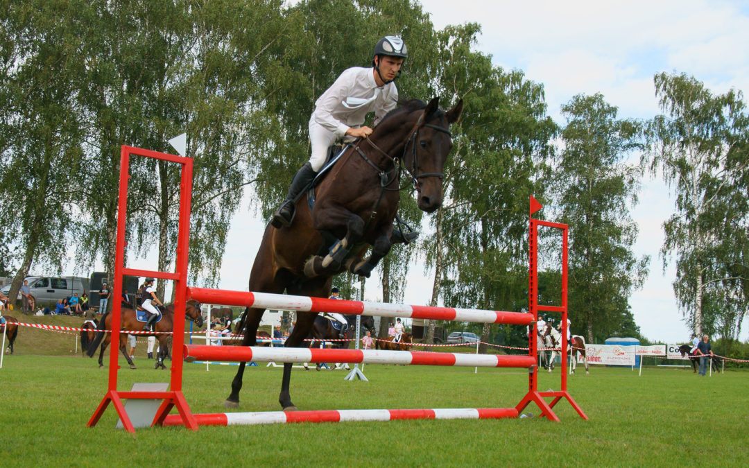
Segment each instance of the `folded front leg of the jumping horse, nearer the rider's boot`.
M348 252L364 235L364 220L348 210L328 207L319 212L315 211L314 228L318 231L334 231L342 225L346 226L343 239L336 241L324 257L315 255L306 262L304 265L306 277L314 278L338 271L348 256Z

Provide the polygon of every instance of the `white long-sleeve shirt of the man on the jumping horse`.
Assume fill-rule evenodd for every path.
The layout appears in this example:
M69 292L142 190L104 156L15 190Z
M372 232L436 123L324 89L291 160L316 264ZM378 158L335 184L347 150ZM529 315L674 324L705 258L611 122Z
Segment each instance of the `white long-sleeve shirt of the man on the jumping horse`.
M359 127L369 112L375 112L376 125L395 106L398 89L394 82L377 86L372 68L344 70L330 88L315 102L314 119L340 139L351 127Z

